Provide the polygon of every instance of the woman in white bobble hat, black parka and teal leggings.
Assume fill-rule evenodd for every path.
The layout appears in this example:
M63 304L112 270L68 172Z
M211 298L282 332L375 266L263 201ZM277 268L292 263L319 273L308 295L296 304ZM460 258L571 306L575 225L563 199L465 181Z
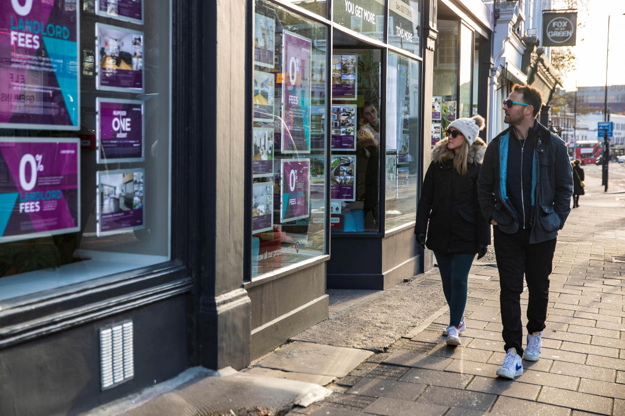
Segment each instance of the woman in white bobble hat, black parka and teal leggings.
M447 138L436 143L423 181L414 228L417 243L434 251L442 290L449 304L446 342L459 346L464 331L467 280L473 258L482 258L491 243L491 228L480 213L477 177L486 143L477 137L484 119L457 119ZM426 242L427 231L427 242Z

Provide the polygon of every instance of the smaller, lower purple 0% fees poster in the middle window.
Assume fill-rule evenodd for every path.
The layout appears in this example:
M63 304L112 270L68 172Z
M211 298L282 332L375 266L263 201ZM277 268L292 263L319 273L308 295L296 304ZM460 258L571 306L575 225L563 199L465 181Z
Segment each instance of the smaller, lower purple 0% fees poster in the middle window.
M282 159L280 222L308 218L310 214L310 162L307 159Z

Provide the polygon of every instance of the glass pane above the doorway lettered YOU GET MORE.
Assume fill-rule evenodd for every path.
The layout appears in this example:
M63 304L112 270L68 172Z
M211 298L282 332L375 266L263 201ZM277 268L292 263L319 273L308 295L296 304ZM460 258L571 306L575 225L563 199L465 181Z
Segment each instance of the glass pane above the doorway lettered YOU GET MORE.
M385 0L341 0L332 6L334 22L347 29L384 40Z

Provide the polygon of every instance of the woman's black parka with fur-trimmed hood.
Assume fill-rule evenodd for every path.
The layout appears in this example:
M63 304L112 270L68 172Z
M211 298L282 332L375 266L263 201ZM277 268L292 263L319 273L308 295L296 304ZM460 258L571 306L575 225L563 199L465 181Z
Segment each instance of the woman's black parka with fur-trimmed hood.
M477 246L491 243L491 227L477 200L477 177L486 143L481 138L469 147L467 172L454 169L454 151L447 138L436 143L432 163L423 181L414 233L426 233L427 248L439 253L477 253ZM428 224L429 223L429 224Z

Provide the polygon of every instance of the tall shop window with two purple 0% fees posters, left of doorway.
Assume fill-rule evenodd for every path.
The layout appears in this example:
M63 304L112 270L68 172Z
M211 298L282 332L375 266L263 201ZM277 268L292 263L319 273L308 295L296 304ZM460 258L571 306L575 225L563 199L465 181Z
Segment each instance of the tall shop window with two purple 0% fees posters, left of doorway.
M254 25L252 278L326 253L328 32L266 1Z

